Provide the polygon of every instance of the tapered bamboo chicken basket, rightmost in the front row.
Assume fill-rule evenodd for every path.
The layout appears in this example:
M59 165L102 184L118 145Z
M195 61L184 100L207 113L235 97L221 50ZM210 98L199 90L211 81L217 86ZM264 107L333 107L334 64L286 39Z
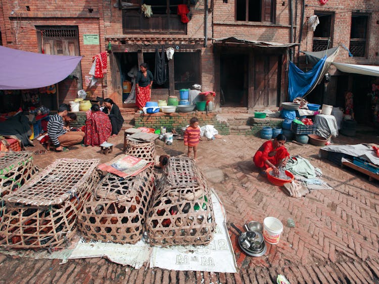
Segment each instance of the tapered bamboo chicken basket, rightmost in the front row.
M146 217L151 245L205 245L215 230L211 192L193 159L169 159Z

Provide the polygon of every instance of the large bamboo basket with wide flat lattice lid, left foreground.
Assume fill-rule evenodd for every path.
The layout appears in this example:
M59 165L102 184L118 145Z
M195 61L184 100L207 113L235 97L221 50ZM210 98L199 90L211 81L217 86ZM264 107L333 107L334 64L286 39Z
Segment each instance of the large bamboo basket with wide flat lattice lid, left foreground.
M0 247L59 248L75 234L77 213L98 185L99 159L58 159L4 197Z

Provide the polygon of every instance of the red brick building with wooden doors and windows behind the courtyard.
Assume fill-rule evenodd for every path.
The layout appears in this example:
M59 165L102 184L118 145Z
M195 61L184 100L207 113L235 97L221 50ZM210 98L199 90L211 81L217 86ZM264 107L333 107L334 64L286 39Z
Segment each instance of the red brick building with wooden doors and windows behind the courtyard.
M168 47L175 52L173 60L166 58L167 80L154 83L152 99L167 98L199 83L203 91L216 91L216 107L278 106L287 96L288 58L303 69L311 68L299 50L323 50L343 43L354 57L341 48L338 62L379 63L375 32L379 3L375 1L329 0L321 5L319 0L1 0L1 4L3 45L84 56L73 76L60 83L61 100L70 100L83 88L93 96L121 103L123 81L131 80L128 72L147 62L154 74L156 52L161 54ZM150 18L141 11L142 4L151 5ZM188 8L187 23L177 15L182 4ZM312 15L320 21L314 32L307 25ZM109 43L108 73L89 88L92 56L106 50ZM334 67L329 73L330 81L309 95L313 102L343 106L347 89L365 92L373 80L368 76L355 80L357 75Z

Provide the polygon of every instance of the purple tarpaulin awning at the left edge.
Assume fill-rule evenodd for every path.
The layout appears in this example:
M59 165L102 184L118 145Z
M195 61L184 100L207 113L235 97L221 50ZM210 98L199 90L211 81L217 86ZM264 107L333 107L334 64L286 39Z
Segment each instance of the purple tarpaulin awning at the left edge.
M34 89L58 83L74 71L81 57L0 46L0 90Z

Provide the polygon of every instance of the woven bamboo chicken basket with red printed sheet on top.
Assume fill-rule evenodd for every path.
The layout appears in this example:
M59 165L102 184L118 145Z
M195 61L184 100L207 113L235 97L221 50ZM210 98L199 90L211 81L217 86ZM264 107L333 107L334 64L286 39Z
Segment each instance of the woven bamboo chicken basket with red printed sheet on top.
M78 227L85 238L121 244L138 242L154 179L151 168L126 179L108 174L79 212Z

